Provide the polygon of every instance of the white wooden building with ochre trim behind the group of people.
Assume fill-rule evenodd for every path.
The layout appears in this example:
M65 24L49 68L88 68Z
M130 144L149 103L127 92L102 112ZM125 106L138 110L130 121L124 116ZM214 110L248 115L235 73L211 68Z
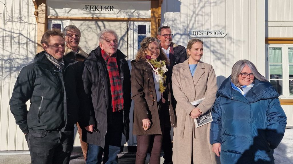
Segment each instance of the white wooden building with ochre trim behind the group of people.
M218 86L236 61L252 61L281 94L287 126L293 126L292 8L293 0L0 0L0 151L28 150L8 102L19 71L42 51L45 30L67 25L79 27L86 52L98 45L101 29L116 30L129 62L139 41L156 36L161 25L171 26L173 42L183 46L194 30L225 32L222 38L200 38L202 61L213 65ZM130 132L125 145L135 144Z

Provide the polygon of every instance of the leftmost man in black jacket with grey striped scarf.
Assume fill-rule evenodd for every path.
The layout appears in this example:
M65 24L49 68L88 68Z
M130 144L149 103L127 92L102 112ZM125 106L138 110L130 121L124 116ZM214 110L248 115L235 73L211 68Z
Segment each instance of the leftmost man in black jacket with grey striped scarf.
M25 134L32 164L69 163L79 116L76 86L82 83L81 71L77 61L63 58L64 35L59 30L46 31L41 44L45 51L18 75L10 110Z

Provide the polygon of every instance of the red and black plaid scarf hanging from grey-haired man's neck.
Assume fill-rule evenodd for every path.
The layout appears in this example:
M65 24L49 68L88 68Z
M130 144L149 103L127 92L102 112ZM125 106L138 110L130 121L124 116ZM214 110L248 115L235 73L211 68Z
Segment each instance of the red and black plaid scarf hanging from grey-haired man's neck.
M123 92L116 57L109 56L101 50L103 59L107 62L110 78L113 112L123 109Z

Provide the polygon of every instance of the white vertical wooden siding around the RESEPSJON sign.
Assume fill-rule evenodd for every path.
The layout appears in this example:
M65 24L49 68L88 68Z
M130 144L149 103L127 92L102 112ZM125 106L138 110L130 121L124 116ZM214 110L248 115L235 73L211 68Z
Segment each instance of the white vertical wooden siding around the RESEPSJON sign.
M187 46L190 30L223 30L224 38L204 42L202 61L212 64L218 86L240 59L253 62L265 75L265 0L168 0L161 24L171 26L173 42Z

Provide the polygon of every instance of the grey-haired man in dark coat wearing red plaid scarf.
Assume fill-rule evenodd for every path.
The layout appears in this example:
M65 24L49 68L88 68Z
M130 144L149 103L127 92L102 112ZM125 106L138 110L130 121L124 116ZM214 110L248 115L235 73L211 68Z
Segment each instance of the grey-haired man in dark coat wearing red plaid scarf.
M83 81L92 99L90 126L83 140L88 143L86 163L118 163L122 133L129 139L129 111L131 106L130 70L126 56L117 49L115 31L99 33L100 45L84 62Z

